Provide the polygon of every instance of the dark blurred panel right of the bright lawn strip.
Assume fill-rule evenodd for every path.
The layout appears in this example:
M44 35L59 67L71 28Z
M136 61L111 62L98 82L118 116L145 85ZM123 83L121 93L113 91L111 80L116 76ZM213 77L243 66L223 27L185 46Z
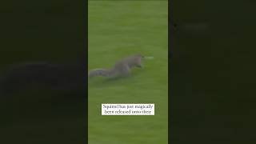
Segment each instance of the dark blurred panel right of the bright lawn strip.
M173 2L170 142L255 143L254 1Z

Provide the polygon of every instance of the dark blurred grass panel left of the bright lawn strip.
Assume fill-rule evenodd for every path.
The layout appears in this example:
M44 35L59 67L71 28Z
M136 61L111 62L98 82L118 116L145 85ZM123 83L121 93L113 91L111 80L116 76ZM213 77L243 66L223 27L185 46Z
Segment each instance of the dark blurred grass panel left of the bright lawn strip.
M1 80L23 62L63 65L58 73L63 78L80 74L81 79L74 89L28 85L18 90L15 81L8 86L13 94L0 91L0 143L86 142L86 2L4 1L0 7ZM52 78L62 83L61 77ZM1 84L3 90L6 83Z

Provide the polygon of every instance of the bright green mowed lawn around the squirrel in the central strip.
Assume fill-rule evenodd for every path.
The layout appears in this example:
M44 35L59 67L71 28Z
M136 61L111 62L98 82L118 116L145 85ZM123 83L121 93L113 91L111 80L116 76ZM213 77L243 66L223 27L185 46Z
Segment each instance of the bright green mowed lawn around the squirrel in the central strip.
M167 1L90 1L88 69L153 56L129 78L89 80L90 144L166 144L168 127ZM102 116L102 103L154 103L154 116Z

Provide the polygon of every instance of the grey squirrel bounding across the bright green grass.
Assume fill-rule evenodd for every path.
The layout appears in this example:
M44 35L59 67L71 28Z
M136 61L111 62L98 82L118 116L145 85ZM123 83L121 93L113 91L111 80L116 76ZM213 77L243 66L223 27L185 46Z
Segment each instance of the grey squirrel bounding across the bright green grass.
M115 76L128 76L131 68L143 67L142 58L144 58L142 54L135 54L127 58L123 58L122 60L116 62L113 68L90 70L88 77L93 78L95 76L102 76L112 78Z

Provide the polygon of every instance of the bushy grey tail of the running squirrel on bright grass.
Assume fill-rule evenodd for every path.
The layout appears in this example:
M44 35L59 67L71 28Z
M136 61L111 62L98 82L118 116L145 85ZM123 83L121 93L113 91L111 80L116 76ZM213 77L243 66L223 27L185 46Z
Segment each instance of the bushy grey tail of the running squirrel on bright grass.
M102 77L113 77L116 74L115 70L104 70L104 69L95 69L90 70L88 73L88 77L92 78L95 76L102 76Z

